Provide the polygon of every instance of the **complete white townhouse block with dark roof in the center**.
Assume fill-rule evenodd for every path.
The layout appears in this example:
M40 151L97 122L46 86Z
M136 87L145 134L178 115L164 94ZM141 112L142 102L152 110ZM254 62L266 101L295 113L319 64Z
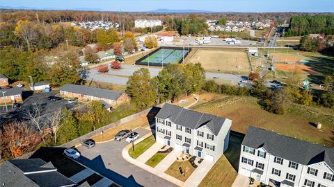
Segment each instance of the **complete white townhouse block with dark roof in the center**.
M157 142L216 162L228 149L232 121L166 103L156 119Z

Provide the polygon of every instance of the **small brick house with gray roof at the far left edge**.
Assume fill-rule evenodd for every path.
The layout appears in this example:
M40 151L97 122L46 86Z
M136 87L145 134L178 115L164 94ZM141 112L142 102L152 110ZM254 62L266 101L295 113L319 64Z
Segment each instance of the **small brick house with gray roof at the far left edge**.
M3 103L21 103L22 91L19 87L13 87L10 89L0 89L0 104Z

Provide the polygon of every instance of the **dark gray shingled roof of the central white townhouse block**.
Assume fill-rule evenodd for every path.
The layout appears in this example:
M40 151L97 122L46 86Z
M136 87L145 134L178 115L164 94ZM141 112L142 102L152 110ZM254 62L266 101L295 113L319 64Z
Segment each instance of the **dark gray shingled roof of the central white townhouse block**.
M218 135L225 122L225 118L196 112L168 103L160 109L156 117L161 119L169 118L173 123L189 127L193 130L198 129L202 125L207 125L214 135Z

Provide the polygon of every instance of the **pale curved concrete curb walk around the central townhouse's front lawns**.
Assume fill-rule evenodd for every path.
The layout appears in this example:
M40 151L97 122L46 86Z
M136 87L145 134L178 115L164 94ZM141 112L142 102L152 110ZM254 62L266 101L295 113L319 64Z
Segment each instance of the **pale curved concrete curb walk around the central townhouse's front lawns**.
M134 141L134 145L140 143L141 141L143 141L144 139L148 138L151 135L152 135L152 132L150 132L148 134L145 134L143 137L141 137L141 139L137 139L136 141ZM180 181L179 179L175 179L174 177L171 177L170 175L167 175L164 172L159 172L159 171L155 170L154 168L146 165L145 163L141 163L140 161L137 161L136 159L133 159L132 157L130 157L129 149L131 147L132 147L132 144L130 143L129 145L125 146L125 148L123 148L123 150L122 150L122 157L127 162L132 163L134 166L142 168L143 170L146 170L146 171L148 171L148 172L150 172L154 175L157 175L157 176L161 177L162 179L165 179L166 181L169 181L170 183L173 183L177 186L184 186L184 181Z

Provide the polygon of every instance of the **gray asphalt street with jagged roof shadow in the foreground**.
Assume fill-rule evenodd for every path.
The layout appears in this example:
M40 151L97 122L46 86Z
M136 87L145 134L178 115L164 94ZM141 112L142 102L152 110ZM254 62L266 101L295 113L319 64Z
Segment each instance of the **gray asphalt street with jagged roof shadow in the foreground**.
M143 136L148 134L150 130L138 128L134 132ZM121 186L175 186L169 181L125 161L122 157L122 150L127 144L125 140L122 140L120 142L98 143L91 149L79 146L77 149L81 152L81 157L77 161Z

